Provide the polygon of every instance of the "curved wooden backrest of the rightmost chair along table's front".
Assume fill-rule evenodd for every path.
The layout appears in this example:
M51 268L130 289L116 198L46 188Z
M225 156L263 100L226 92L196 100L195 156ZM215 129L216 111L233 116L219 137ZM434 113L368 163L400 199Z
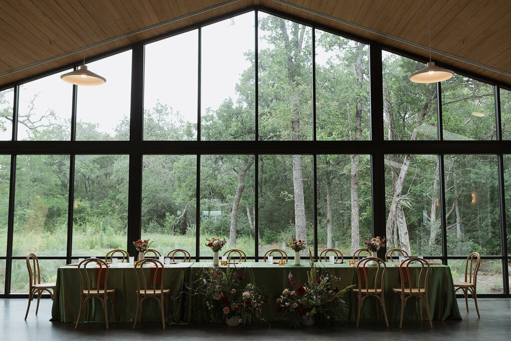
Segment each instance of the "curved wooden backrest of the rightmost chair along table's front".
M412 264L414 266L411 266ZM412 278L410 271L411 268L416 267L414 279ZM399 272L401 275L401 289L403 292L412 294L413 289L417 289L414 294L427 293L428 292L428 279L429 279L429 263L425 259L412 257L405 259L399 266ZM418 274L417 274L418 272Z

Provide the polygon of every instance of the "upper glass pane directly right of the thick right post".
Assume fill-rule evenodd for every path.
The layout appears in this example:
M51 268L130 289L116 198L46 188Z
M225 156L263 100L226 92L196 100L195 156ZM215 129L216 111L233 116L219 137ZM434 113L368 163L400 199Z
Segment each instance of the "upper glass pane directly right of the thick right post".
M410 81L423 63L382 51L386 140L437 140L436 84Z

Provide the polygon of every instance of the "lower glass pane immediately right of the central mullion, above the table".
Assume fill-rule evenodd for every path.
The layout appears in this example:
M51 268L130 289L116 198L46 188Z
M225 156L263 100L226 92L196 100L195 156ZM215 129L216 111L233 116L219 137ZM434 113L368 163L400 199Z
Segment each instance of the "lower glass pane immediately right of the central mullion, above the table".
M259 256L271 248L294 256L286 247L292 237L307 240L313 251L312 164L311 155L259 156Z

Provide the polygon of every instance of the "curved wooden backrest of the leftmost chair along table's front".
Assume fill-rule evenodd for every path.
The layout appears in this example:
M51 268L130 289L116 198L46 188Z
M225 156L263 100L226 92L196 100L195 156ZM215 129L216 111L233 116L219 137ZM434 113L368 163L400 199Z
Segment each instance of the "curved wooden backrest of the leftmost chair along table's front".
M94 276L90 276L92 268L94 268ZM87 294L99 294L102 287L105 289L107 287L108 264L98 258L87 258L78 264L78 277L80 278L80 293L87 290ZM106 295L106 290L103 293Z

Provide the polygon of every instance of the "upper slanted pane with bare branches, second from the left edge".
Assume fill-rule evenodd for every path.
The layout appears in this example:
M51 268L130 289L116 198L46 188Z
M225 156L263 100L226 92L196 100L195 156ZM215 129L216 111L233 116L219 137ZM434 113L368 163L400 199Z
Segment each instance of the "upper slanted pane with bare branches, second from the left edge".
M60 79L61 74L71 71L20 86L18 140L71 139L73 85Z

